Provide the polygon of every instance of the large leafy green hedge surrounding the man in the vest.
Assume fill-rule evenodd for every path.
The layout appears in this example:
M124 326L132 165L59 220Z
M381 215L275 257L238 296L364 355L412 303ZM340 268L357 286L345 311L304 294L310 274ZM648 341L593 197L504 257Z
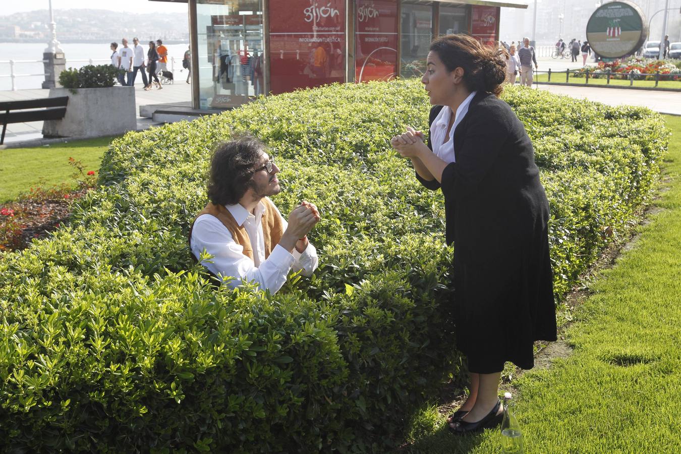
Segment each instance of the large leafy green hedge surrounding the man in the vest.
M635 221L663 120L507 88L550 199L556 296ZM0 257L0 439L17 451L385 451L462 361L439 192L388 139L426 129L416 80L333 85L115 140L69 227ZM215 290L186 235L212 144L281 167L282 212L323 213L320 265L274 296Z

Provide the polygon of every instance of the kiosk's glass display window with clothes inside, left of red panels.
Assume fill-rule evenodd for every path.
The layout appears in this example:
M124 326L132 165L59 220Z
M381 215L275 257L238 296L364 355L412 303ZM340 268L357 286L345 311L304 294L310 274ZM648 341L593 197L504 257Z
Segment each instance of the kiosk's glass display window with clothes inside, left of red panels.
M263 93L262 0L197 0L199 106L240 106Z

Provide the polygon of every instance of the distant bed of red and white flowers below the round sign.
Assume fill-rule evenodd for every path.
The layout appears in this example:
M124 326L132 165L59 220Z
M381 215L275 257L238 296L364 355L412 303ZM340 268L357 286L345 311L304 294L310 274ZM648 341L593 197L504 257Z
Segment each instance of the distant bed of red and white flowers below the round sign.
M573 72L574 77L589 77L598 79L607 77L628 80L633 74L635 80L655 80L655 74L659 71L659 80L681 80L681 69L676 64L664 60L646 60L635 57L627 60L615 60L612 62L599 61L598 65L585 66Z

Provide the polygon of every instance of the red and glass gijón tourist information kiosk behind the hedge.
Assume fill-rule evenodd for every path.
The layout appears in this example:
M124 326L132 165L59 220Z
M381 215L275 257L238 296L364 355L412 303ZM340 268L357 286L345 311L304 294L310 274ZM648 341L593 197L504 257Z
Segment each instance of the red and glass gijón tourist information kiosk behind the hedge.
M493 44L501 7L527 7L488 0L177 1L188 5L195 109L333 82L421 76L434 37L468 33Z

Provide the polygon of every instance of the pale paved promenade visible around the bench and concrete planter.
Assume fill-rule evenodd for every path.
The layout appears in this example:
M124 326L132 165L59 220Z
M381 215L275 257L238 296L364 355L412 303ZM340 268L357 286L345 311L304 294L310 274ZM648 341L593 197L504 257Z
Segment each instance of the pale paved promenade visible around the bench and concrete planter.
M35 90L0 91L0 101L20 101L22 99L46 98L50 94L48 89L37 88ZM158 125L151 118L140 116L140 106L161 103L187 103L191 102L191 85L186 84L184 78L174 84L165 84L163 89L144 91L142 83L135 85L135 112L137 114L137 130L147 129ZM0 125L2 127L2 125ZM5 133L5 145L16 142L42 140L42 121L31 123L12 123L7 125Z

